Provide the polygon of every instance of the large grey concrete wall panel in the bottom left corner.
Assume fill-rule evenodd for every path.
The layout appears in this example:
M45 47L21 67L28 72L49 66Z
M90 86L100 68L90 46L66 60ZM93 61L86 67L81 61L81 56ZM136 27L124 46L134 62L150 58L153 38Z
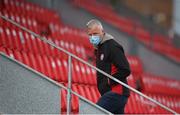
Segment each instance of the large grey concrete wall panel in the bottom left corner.
M0 54L0 113L59 114L60 88Z

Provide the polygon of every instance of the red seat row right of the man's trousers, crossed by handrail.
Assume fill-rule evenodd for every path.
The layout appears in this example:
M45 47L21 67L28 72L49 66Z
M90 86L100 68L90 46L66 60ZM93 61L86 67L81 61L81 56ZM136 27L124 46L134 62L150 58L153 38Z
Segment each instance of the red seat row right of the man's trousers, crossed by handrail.
M180 112L180 98L177 96L166 96L146 93L145 95L155 99L163 105L173 109L176 112ZM131 92L131 96L125 107L125 113L127 114L171 114L169 111L154 104L153 102L145 99Z

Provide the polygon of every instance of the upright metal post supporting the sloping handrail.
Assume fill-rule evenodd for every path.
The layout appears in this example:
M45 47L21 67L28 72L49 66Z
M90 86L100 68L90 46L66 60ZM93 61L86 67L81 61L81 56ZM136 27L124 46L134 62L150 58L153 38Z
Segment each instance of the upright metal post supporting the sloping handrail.
M68 56L68 92L67 92L67 115L71 114L71 81L72 81L72 57Z

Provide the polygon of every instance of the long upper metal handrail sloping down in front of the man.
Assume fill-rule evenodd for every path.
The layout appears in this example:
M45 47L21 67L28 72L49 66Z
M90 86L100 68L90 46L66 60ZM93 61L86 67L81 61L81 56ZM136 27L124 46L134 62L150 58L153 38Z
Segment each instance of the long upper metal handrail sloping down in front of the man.
M144 98L146 98L146 99L148 99L148 100L154 102L155 104L159 105L160 107L164 108L165 110L167 110L167 111L169 111L169 112L171 112L171 113L173 113L173 114L178 114L176 111L174 111L174 110L168 108L167 106L165 106L165 105L159 103L158 101L156 101L156 100L154 100L154 99L148 97L147 95L145 95L145 94L139 92L138 90L136 90L136 89L134 89L133 87L131 87L131 86L129 86L129 85L123 83L122 81L120 81L120 80L118 80L118 79L116 79L116 78L114 78L113 76L107 74L106 72L100 70L99 68L96 68L95 66L89 64L88 62L86 62L85 60L83 60L83 59L77 57L76 55L74 55L74 54L72 54L72 53L66 51L65 49L63 49L63 48L57 46L57 45L54 44L52 41L47 40L47 39L44 38L44 37L41 37L40 35L36 34L35 32L33 32L33 31L31 31L31 30L29 30L29 29L27 29L27 28L21 26L20 24L16 23L15 21L13 21L13 20L11 20L11 19L9 19L9 18L7 18L7 17L5 17L5 16L3 16L3 15L0 15L0 17L1 17L2 19L4 19L4 20L6 20L6 21L8 21L8 22L10 22L10 23L12 23L12 24L14 24L15 26L19 27L20 29L22 29L22 30L24 30L24 31L26 31L26 32L28 32L28 33L34 35L34 36L37 37L38 39L41 39L41 40L44 41L45 43L48 43L49 45L51 45L51 46L57 48L58 50L60 50L60 51L62 51L62 52L64 52L64 53L66 53L67 55L69 55L69 56L75 58L76 60L80 61L81 63L84 63L84 64L88 65L89 67L95 69L96 71L98 71L98 72L100 72L101 74L105 75L106 77L108 77L108 78L110 78L110 79L116 81L117 83L123 85L124 87L130 89L131 91L133 91L133 92L139 94L140 96L142 96L142 97L144 97Z

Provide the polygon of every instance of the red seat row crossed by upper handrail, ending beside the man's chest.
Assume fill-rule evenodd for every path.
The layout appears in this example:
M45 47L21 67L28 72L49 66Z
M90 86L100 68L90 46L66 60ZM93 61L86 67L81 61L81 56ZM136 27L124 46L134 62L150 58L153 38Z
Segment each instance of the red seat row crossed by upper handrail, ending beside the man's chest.
M46 39L83 59L87 59L87 55L85 55L86 49L81 44L74 44L63 40L52 41L52 38ZM67 58L67 55L64 53L61 53L60 55L61 51L58 51L54 47L20 29L15 30L13 28L3 28L0 26L0 46L19 51L32 52L35 54L45 54L49 56L61 56L63 58Z

